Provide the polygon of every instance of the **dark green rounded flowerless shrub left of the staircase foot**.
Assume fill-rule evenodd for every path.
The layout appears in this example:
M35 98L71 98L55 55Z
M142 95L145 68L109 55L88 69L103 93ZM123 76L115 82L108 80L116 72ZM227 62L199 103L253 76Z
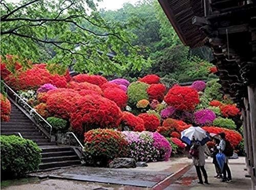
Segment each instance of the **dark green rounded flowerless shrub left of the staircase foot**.
M21 177L27 172L38 170L41 149L32 140L15 135L1 135L0 140L2 177Z

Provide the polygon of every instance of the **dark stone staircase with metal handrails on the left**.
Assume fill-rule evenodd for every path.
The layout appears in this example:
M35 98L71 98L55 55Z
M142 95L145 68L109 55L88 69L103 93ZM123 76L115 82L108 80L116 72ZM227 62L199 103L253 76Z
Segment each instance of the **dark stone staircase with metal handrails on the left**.
M11 117L9 122L1 122L1 134L12 135L20 133L23 138L34 141L41 152L41 164L39 170L67 167L81 164L81 161L72 148L57 146L50 142L45 135L14 103L11 103Z

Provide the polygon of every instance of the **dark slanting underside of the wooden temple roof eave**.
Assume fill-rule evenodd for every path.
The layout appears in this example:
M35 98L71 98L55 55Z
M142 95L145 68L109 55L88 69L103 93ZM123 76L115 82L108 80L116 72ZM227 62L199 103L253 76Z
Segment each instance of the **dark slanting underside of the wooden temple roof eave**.
M192 24L195 16L204 16L204 1L158 0L183 44L190 47L203 45L206 37L199 27Z

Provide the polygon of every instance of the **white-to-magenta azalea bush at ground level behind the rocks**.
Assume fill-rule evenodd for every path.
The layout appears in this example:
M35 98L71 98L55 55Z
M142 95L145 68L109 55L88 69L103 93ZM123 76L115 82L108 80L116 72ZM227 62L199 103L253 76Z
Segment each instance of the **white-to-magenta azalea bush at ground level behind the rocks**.
M130 154L128 157L136 161L168 160L172 148L161 134L157 132L133 132L123 131L128 142Z

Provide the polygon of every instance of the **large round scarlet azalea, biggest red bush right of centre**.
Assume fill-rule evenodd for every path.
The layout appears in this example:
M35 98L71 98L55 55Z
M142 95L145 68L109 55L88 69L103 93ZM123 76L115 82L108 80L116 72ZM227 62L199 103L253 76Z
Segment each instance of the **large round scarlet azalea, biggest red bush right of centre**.
M177 85L168 91L164 101L178 110L193 111L199 104L199 96L197 90Z

